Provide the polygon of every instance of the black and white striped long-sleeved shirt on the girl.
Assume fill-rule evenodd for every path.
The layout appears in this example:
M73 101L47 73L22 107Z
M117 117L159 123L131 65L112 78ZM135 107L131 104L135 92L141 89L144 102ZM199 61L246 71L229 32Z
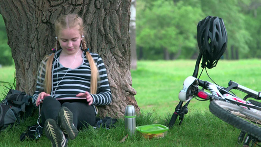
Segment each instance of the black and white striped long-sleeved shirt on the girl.
M86 52L83 51L83 63L76 69L69 69L63 67L59 62L59 55L61 50L57 51L57 58L54 56L52 63L52 90L51 96L56 99L74 99L77 98L75 95L79 93L85 93L86 91L90 93L91 85L91 68L89 62L86 58ZM91 96L93 97L93 104L95 106L108 105L111 102L111 90L107 79L107 72L101 57L90 52L95 64L98 68L100 80L97 83L97 94ZM43 60L42 76L40 76L40 70L37 74L37 86L36 91L33 95L33 103L36 106L36 99L38 95L44 91L44 74L46 62ZM42 77L42 78L41 78ZM58 78L57 78L58 77ZM57 80L58 79L58 80ZM58 85L57 85L58 83Z

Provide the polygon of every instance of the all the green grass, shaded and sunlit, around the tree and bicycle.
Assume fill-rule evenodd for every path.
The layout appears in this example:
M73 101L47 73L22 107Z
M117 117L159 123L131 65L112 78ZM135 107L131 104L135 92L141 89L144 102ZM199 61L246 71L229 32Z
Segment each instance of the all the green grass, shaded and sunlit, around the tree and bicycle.
M155 123L167 126L179 102L178 93L183 87L183 81L192 75L194 66L195 60L138 62L138 69L131 71L132 86L137 91L135 98L142 110L141 115L136 118L137 126ZM7 67L0 69L0 81L13 82L14 67L10 69ZM217 67L208 70L208 73L221 86L226 87L229 80L233 80L260 91L260 69L261 60L257 59L220 60ZM8 77L2 78L3 73L9 73ZM201 79L210 81L205 72ZM238 95L244 96L241 93ZM124 119L121 118L116 123L117 127L110 130L92 127L81 130L78 137L70 140L68 145L69 147L242 147L237 144L240 130L211 114L208 105L209 101L191 100L189 113L182 125L179 126L176 122L173 129L168 130L166 137L162 139L148 140L136 134L120 143L127 134ZM34 116L25 123L0 132L0 147L50 147L46 137L41 137L37 141L19 140L21 133L28 125L35 124L36 120L37 116Z

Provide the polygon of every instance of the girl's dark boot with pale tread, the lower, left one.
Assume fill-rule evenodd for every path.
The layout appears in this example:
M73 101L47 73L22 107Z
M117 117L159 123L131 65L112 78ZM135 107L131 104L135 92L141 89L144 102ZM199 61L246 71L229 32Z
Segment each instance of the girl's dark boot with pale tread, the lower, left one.
M53 119L47 119L45 122L45 134L51 141L52 147L67 147L67 139Z

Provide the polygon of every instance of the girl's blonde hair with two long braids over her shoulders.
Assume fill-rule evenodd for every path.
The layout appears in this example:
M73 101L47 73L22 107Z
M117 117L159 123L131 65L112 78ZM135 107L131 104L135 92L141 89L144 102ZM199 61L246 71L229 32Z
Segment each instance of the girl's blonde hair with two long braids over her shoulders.
M85 34L84 31L84 25L83 20L76 14L69 14L69 15L62 15L55 21L55 34L58 37L59 31L61 29L68 29L68 28L76 28L79 30L81 35ZM57 47L58 46L58 47ZM60 45L57 43L57 46L55 45L54 49L59 50ZM82 39L82 48L83 50L86 50L86 42L84 38ZM51 93L51 87L52 87L52 61L55 53L52 53L50 56L48 56L47 63L46 63L46 74L45 74L45 92L47 94ZM99 80L99 73L98 69L96 67L95 61L90 54L89 51L86 51L86 58L89 61L89 65L91 67L91 86L90 86L90 92L91 94L96 94L97 92L97 83Z

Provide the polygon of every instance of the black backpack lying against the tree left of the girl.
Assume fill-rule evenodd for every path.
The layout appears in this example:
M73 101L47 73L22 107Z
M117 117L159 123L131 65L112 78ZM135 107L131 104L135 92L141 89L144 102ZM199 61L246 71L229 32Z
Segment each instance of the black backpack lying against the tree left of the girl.
M33 114L34 109L31 96L10 89L0 103L0 130L12 127L15 122L20 124L21 120Z

